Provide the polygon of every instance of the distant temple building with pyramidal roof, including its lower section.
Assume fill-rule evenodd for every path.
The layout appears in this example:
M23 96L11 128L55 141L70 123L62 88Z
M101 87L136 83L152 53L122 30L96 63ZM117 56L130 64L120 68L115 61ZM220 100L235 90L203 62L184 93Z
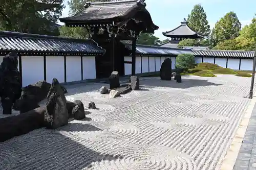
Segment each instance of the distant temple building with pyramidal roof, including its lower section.
M198 39L203 38L204 36L197 33L193 29L191 29L187 25L186 18L181 22L181 25L171 31L163 32L163 35L170 38L169 42L166 42L164 44L161 44L161 46L165 47L174 47L177 48L178 44L181 40L184 39Z

